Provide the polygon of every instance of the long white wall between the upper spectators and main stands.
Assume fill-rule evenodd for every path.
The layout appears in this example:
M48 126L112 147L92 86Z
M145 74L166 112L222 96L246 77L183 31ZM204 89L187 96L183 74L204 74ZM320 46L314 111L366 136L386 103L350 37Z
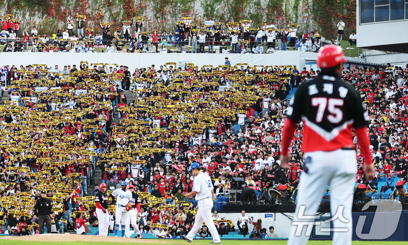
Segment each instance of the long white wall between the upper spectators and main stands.
M184 63L194 63L201 68L204 65L213 65L214 67L222 65L225 57L231 61L231 65L236 63L248 63L250 66L275 66L275 65L295 65L298 70L306 66L307 69L317 70L317 53L302 51L277 51L273 54L187 54L187 53L0 53L0 66L20 65L41 63L48 67L55 65L63 69L68 65L80 65L81 61L91 63L117 63L118 65L129 66L133 73L135 68L148 67L155 65L160 69L160 65L166 62L176 62L177 67ZM352 58L355 61L364 61L364 59ZM345 67L347 64L345 64Z

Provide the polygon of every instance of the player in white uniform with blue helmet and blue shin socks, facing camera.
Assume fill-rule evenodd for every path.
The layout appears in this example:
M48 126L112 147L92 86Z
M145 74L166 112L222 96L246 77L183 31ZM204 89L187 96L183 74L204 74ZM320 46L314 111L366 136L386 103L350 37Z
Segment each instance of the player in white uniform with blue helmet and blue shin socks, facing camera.
M120 185L122 186L122 189L116 189L112 193L112 196L116 197L115 236L118 236L119 225L121 224L122 237L124 237L126 219L128 215L127 212L132 207L132 193L126 189L126 182L123 181Z

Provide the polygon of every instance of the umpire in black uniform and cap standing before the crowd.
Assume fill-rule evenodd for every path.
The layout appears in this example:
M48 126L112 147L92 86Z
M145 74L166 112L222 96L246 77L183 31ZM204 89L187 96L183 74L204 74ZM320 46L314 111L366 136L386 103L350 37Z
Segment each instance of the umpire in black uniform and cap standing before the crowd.
M40 193L40 198L34 205L34 219L38 216L38 225L40 225L40 234L44 234L44 223L47 225L47 233L51 233L51 201L45 197L45 190Z

